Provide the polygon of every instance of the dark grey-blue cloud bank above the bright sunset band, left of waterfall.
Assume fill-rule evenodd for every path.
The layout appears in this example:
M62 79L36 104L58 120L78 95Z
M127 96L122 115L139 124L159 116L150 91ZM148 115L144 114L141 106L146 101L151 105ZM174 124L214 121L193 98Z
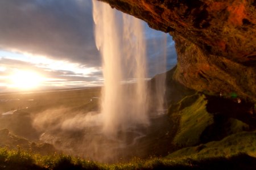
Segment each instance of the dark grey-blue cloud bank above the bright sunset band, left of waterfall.
M0 48L101 65L91 1L2 0Z

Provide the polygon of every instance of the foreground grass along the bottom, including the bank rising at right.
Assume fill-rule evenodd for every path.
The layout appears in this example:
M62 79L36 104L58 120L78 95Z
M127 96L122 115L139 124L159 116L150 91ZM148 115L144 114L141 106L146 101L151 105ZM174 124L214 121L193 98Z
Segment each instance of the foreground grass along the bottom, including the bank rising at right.
M104 164L64 154L42 156L29 150L0 148L0 169L255 169L256 131L229 135L164 158Z

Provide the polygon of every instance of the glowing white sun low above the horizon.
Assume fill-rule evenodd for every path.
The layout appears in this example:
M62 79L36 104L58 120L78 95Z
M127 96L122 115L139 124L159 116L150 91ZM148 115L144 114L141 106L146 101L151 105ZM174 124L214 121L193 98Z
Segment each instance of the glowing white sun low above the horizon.
M43 77L34 71L18 70L10 75L11 87L30 90L42 83Z

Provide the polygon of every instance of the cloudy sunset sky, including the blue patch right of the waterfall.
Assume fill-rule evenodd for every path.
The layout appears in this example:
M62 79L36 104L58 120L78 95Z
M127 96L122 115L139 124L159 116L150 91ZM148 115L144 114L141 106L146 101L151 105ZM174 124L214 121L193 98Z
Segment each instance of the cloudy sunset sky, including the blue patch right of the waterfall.
M144 25L151 78L159 73L163 37L167 69L176 64L175 44ZM0 1L0 92L101 86L101 65L90 0Z

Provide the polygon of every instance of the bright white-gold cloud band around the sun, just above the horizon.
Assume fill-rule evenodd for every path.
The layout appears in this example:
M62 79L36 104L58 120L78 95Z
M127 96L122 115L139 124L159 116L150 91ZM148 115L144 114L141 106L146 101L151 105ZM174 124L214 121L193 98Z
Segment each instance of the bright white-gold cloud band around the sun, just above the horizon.
M57 62L57 61L56 61ZM11 76L19 70L27 70L43 76L43 82L38 89L55 87L76 88L101 86L102 75L99 70L92 70L89 74L76 73L71 70L55 70L48 67L38 67L34 63L16 59L0 58L0 92L13 91ZM75 70L75 69L74 69Z

